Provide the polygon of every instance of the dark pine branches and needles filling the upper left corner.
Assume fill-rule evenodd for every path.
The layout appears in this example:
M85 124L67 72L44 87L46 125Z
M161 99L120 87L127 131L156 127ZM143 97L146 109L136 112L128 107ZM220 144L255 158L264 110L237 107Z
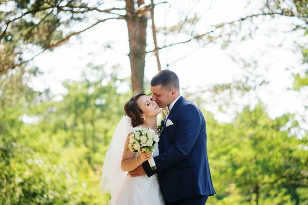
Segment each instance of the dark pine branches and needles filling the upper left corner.
M24 63L35 47L52 50L63 45L68 25L87 18L87 5L74 1L0 1L0 73Z

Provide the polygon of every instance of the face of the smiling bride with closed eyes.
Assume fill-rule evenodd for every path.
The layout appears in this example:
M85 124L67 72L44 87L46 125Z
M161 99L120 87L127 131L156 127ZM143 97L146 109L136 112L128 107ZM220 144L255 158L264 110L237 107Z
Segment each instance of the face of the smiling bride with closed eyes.
M152 101L151 98L147 95L141 96L137 100L138 107L142 110L143 115L152 117L156 116L161 112L161 109L155 101Z

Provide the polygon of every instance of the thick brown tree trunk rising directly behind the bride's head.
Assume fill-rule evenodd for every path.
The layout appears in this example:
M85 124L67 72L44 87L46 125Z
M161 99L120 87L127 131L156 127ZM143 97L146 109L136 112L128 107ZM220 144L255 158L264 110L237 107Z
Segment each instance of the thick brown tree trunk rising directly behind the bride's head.
M125 0L127 10L127 29L129 40L129 60L131 68L132 90L144 92L143 78L145 66L146 26L147 17L135 15L134 0ZM138 7L144 4L144 0L138 0Z

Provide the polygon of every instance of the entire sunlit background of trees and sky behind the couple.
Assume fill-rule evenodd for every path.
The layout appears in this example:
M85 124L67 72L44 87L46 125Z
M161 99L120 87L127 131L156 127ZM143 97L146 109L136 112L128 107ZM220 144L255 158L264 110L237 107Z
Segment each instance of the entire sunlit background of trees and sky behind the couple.
M0 1L2 204L108 204L108 143L158 61L205 116L207 204L308 204L308 1L131 2Z

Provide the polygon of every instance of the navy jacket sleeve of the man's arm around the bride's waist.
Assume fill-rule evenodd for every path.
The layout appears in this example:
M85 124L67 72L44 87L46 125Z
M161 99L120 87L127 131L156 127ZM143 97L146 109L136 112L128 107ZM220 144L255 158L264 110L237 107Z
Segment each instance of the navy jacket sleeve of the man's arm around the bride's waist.
M200 134L201 117L194 105L186 105L182 109L180 120L176 125L175 144L154 158L157 170L152 171L148 163L143 163L143 169L148 177L181 162L194 147Z

